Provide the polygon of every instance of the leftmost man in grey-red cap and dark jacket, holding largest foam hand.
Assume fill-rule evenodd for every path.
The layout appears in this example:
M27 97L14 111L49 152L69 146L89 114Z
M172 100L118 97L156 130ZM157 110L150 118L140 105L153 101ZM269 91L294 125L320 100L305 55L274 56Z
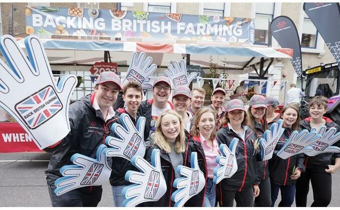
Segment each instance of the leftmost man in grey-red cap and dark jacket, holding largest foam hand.
M105 143L108 135L113 135L113 104L121 89L120 79L115 73L103 72L95 83L95 92L70 105L70 133L45 149L53 152L45 171L53 206L97 206L101 200L102 186L77 188L57 196L55 181L62 177L59 171L62 166L73 164L70 159L73 154L96 158L99 145Z

